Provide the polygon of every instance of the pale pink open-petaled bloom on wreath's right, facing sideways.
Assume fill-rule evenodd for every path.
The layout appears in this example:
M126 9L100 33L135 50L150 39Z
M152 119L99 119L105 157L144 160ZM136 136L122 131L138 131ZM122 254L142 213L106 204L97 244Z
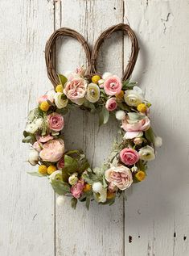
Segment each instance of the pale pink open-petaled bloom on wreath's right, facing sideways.
M150 128L150 120L145 116L142 120L130 121L129 116L125 116L122 120L121 128L123 128L125 133L125 139L134 139L136 136L142 136L142 131L146 131Z

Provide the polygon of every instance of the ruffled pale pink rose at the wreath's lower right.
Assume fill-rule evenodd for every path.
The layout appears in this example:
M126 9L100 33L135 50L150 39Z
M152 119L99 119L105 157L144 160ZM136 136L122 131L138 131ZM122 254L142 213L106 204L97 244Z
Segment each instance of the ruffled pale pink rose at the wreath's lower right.
M111 186L118 187L121 191L130 187L133 183L132 173L129 168L119 165L112 166L109 170L105 170L105 179L111 183Z

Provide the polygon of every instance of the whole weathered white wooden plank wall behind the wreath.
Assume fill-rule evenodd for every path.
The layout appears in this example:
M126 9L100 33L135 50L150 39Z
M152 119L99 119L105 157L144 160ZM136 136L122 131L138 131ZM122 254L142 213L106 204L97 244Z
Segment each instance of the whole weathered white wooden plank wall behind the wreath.
M146 180L112 207L55 206L47 181L27 174L27 112L51 89L44 46L55 28L71 27L92 46L105 28L125 22L136 31L140 53L133 79L153 103L163 138ZM0 0L0 255L188 256L189 255L189 1L188 0ZM64 44L62 44L64 43ZM99 70L121 76L129 43L106 40ZM61 40L61 73L84 64L75 40ZM93 166L107 156L116 124L98 128L97 116L68 116L67 145L81 147Z

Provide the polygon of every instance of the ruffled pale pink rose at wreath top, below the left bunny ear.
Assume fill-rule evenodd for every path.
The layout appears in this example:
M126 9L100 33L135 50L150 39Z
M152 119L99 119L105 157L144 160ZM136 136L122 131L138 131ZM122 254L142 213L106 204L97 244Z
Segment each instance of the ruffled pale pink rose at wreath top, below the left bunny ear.
M64 87L64 94L68 99L76 100L84 98L86 93L87 82L83 78L73 78L68 81Z

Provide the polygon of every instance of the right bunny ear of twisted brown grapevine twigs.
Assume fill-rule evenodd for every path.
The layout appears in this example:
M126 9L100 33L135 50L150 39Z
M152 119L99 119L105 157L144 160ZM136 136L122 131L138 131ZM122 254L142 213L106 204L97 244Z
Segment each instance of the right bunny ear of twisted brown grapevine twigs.
M125 34L128 34L129 39L131 40L131 54L130 54L130 58L129 58L129 63L125 68L125 72L123 74L122 80L125 81L127 80L133 70L134 70L134 66L135 63L138 59L138 40L137 37L134 34L134 31L129 27L129 25L124 24L124 23L119 23L115 26L109 27L108 29L106 29L104 32L101 33L101 36L98 37L93 49L92 49L92 57L91 57L91 73L97 73L97 69L96 69L96 65L97 65L97 56L98 56L98 52L99 49L101 47L101 44L104 42L104 40L111 36L113 34L113 32L115 31L123 31Z

